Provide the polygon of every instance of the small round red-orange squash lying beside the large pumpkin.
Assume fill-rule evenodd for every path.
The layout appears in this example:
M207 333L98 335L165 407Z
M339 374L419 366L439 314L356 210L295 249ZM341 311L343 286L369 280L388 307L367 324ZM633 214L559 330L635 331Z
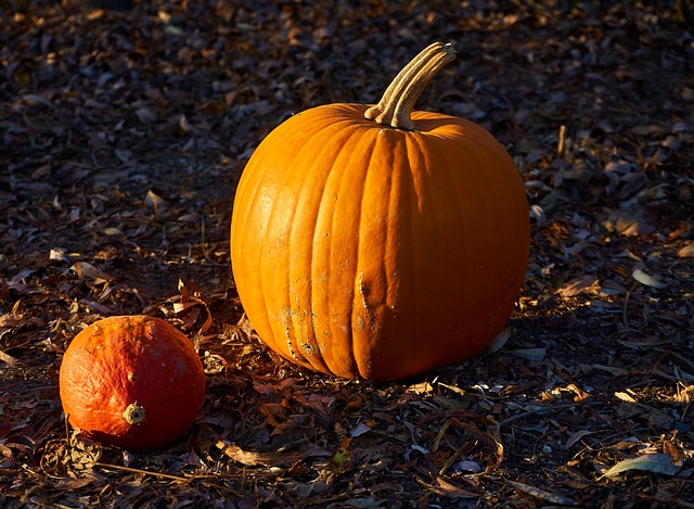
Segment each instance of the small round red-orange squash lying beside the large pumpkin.
M192 343L168 322L110 317L87 327L65 351L60 394L74 428L144 451L188 430L205 395L205 373Z

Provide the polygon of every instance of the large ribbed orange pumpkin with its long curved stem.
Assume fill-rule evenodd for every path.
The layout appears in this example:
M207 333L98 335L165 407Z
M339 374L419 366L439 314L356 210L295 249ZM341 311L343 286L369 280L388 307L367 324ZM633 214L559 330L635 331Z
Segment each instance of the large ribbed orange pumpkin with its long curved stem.
M375 106L299 113L260 143L234 199L231 260L259 336L303 366L398 380L501 332L529 251L525 187L483 127L412 112L450 44Z

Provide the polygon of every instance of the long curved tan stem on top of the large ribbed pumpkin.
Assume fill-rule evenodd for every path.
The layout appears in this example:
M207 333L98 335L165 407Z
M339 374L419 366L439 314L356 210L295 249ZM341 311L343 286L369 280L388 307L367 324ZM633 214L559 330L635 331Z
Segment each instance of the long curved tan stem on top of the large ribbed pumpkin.
M453 44L434 42L398 73L378 104L367 110L364 117L397 129L415 130L410 118L414 103L436 73L454 58Z

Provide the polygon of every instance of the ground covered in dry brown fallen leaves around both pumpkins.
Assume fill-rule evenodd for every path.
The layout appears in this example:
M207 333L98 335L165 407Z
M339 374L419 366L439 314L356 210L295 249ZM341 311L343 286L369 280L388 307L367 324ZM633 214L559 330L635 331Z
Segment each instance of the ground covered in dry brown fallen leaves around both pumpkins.
M0 505L694 507L694 38L674 2L0 4ZM234 186L288 115L420 107L515 157L531 258L490 352L403 383L297 369L243 317ZM72 436L76 332L144 313L207 373L174 446Z

